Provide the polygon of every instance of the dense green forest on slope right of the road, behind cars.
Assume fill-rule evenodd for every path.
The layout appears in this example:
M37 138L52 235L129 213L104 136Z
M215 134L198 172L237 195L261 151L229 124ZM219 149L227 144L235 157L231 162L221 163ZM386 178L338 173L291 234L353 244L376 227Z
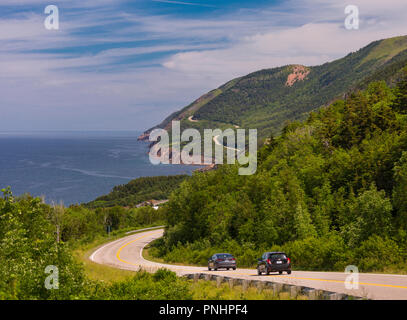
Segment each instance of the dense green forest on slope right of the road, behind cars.
M250 177L222 166L181 184L153 255L205 264L214 251L253 266L284 250L296 269L407 271L407 68L291 122Z

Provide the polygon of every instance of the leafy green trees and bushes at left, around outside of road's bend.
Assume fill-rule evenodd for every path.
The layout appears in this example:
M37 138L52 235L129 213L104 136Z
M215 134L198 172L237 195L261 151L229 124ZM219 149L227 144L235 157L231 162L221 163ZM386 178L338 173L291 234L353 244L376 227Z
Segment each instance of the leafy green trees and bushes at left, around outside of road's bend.
M0 300L3 299L157 299L188 296L185 283L166 272L137 274L118 284L89 280L73 255L78 245L113 231L163 223L161 210L121 207L90 210L50 206L29 195L0 197ZM58 290L47 290L47 266L57 266Z

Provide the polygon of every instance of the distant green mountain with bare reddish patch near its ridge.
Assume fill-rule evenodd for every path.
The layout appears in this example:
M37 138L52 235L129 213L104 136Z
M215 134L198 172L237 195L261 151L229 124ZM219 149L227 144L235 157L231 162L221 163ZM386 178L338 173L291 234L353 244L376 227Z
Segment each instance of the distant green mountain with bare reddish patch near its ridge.
M257 128L260 139L281 132L287 120L304 120L310 111L363 89L372 80L392 84L407 63L407 36L376 41L320 66L289 65L234 79L165 119L186 128ZM141 138L148 139L148 130Z

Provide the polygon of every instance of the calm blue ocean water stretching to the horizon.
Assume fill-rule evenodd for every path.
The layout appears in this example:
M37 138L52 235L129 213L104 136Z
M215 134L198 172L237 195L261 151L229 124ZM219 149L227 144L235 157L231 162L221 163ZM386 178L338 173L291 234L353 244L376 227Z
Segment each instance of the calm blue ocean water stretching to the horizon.
M142 176L191 174L196 166L153 165L140 132L0 132L0 188L84 203Z

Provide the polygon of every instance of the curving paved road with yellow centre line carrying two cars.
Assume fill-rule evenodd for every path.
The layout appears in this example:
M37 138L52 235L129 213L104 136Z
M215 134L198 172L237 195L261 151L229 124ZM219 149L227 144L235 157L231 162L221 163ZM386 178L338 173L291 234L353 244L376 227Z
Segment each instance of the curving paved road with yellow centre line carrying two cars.
M163 230L146 231L113 241L98 248L90 256L96 263L126 270L157 270L165 267L178 275L189 273L222 274L228 277L251 280L268 280L307 286L315 289L345 293L369 299L407 300L407 276L387 274L360 274L359 289L345 288L346 276L340 272L293 271L291 275L270 274L258 276L255 269L237 269L236 271L208 271L204 267L176 266L160 264L143 258L143 248L151 241L160 238Z

